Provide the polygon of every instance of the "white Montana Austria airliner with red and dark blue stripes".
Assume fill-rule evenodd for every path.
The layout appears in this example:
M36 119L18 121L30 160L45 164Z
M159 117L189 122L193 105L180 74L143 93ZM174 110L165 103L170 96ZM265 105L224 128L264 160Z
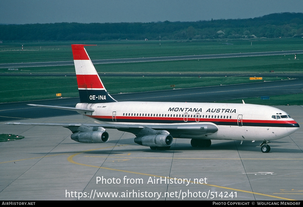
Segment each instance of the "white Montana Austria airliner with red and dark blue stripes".
M63 126L72 131L71 138L82 143L105 143L105 128L135 134L135 143L152 150L168 150L174 138L191 139L193 147L209 147L211 140L263 141L261 151L270 151L270 140L294 133L299 124L286 112L262 105L183 103L183 102L117 102L106 91L83 44L73 44L78 90L81 103L74 110L96 124L7 123Z

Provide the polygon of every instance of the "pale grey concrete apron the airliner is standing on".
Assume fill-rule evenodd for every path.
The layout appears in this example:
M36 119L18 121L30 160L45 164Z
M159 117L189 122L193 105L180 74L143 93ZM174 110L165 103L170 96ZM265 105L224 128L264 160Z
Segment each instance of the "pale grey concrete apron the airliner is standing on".
M278 108L303 123L302 106ZM81 115L22 122L88 123ZM257 142L213 140L198 149L187 139L154 151L135 144L133 134L107 131L108 143L85 144L63 127L1 124L0 133L25 139L0 143L0 200L302 199L302 127L272 141L270 153Z

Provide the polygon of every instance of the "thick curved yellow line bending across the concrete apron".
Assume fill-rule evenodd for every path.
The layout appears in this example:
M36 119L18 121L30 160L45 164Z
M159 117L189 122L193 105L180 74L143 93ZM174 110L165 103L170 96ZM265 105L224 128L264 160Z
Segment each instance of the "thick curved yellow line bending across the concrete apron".
M120 146L124 146L124 145L120 145ZM133 174L137 174L137 175L145 175L145 176L154 176L154 177L158 177L158 178L174 179L174 178L166 177L166 176L157 176L157 175L151 175L151 174L146 174L146 173L138 173L138 172L133 172L133 171L128 171L128 170L120 170L120 169L113 169L113 168L108 168L108 167L99 167L99 166L94 166L94 165L87 165L87 164L77 163L77 162L75 162L73 160L73 158L75 156L77 156L79 154L82 154L82 153L85 153L85 152L89 152L89 151L93 151L93 150L101 150L101 149L105 149L105 148L113 148L113 147L115 147L115 146L103 147L103 148L92 149L92 150L85 150L85 151L82 151L82 152L79 152L79 153L75 153L75 154L69 156L67 158L67 160L70 163L73 163L73 164L76 164L76 165L82 165L82 166L88 166L88 167L96 167L96 168L100 168L100 169L108 169L108 170L114 170L114 171L119 171L119 172L124 172L124 173L133 173ZM190 181L190 182L193 183L193 181ZM293 201L293 199L278 197L278 196L275 196L275 195L268 195L268 194L251 192L251 191L240 190L240 189L235 189L235 188L228 188L228 187L224 187L224 186L216 186L216 185L211 185L211 184L206 184L206 183L202 183L201 185L206 185L206 186L211 186L211 187L216 187L216 188L223 188L223 189L228 189L228 190L235 190L235 191L239 191L239 192L246 192L246 193L251 193L251 194L255 194L255 195L264 195L264 196L268 196L268 197L271 197L271 198L277 198L277 199L283 199L283 200Z

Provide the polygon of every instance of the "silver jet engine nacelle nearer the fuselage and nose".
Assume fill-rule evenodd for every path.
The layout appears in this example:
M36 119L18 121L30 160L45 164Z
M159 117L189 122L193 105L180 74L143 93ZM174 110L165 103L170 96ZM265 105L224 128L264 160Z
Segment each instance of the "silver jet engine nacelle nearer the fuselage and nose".
M169 134L144 135L136 137L134 141L143 146L171 146L173 137Z

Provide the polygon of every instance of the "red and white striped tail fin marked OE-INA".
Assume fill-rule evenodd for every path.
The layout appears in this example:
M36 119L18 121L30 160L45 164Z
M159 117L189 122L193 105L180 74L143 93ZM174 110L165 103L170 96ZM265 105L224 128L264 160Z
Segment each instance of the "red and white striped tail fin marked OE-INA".
M78 90L81 103L116 102L106 91L91 59L84 48L86 44L72 44Z

